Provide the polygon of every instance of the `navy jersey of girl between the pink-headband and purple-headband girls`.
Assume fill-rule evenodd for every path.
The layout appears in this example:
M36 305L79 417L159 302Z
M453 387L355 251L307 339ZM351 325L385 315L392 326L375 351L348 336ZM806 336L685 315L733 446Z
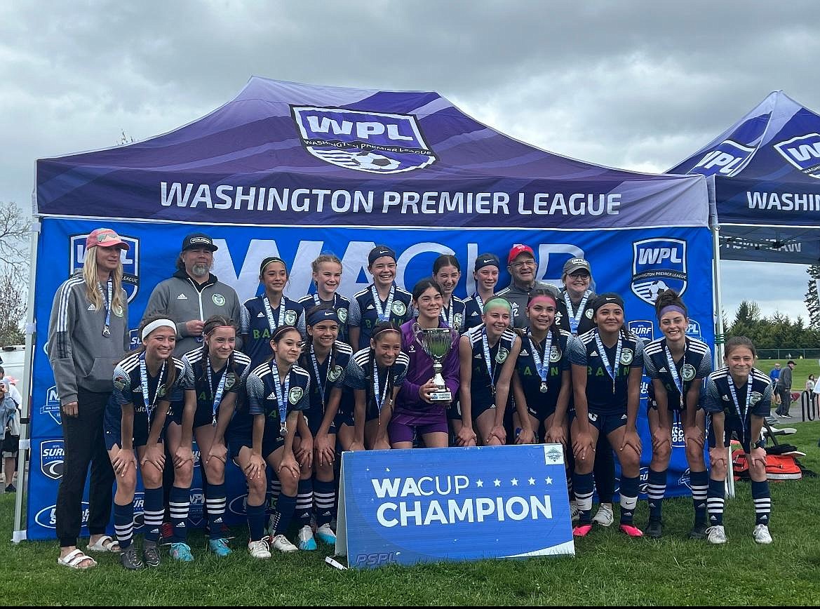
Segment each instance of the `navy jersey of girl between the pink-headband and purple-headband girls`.
M621 354L617 362L617 343L612 348L604 346L604 354L615 376L613 388L613 377L599 352L597 336L596 328L573 336L569 342L570 363L586 369L587 408L602 414L626 412L627 379L632 368L644 367L644 342L631 332L620 332Z

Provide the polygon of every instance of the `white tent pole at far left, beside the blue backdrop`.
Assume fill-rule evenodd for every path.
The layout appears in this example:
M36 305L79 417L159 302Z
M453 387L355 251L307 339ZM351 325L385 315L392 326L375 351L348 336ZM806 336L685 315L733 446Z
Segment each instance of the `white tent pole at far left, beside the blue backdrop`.
M30 266L29 266L29 302L28 311L25 315L25 363L23 365L23 382L25 391L21 392L23 403L21 404L21 429L20 429L20 452L21 467L17 472L17 495L14 500L14 526L11 529L11 541L20 543L25 539L25 527L23 525L23 496L28 495L28 478L31 455L31 381L33 378L32 367L34 364L34 348L37 344L37 325L34 319L34 286L37 284L37 245L40 235L40 216L34 215L31 218L30 233Z

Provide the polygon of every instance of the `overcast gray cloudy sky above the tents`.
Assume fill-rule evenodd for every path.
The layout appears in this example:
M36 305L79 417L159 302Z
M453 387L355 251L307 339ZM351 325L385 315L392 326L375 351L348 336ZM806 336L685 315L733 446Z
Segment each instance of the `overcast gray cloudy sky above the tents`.
M820 110L816 2L0 3L0 201L34 161L147 139L251 75L435 90L497 130L661 172L783 89ZM724 310L807 317L804 266L725 262Z

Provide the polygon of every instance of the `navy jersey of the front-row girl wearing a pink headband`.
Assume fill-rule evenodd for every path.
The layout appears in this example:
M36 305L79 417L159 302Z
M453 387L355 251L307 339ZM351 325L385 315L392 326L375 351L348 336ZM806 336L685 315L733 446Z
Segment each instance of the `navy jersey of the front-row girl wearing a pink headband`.
M544 338L540 343L532 338L529 332L522 339L521 352L518 353L516 361L516 374L521 381L521 386L526 398L526 405L531 411L540 411L546 407L547 410L555 410L558 402L558 393L561 391L561 379L564 371L569 370L569 357L567 357L567 342L571 334L564 330L558 330L558 335ZM547 339L549 338L549 351ZM535 355L533 354L535 352ZM546 373L546 391L541 391L542 380L535 365L535 357L539 358ZM549 365L549 370L546 366Z

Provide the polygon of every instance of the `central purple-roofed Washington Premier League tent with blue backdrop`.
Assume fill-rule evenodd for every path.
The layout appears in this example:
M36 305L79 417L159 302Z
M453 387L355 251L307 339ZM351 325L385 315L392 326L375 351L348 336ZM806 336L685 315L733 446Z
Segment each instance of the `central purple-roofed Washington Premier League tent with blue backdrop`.
M480 253L505 261L513 243L526 243L537 252L538 277L553 283L569 257L590 260L597 289L622 293L631 327L646 339L660 335L655 291L678 289L690 308L690 334L713 343L713 249L702 176L633 173L544 152L473 120L438 93L252 78L235 99L180 129L41 159L36 173L42 229L30 311L29 539L54 536L59 468L49 460L62 448L44 352L48 315L57 286L81 265L84 235L100 225L132 244L124 261L137 278L128 287L132 328L153 287L171 275L183 237L198 225L194 230L207 230L219 245L214 273L243 299L257 293L258 263L270 255L292 270L287 293L308 293L310 261L320 252L343 260L340 291L352 295L369 282L367 252L376 243L399 253L398 283L408 288L430 275L440 253L456 255L463 297L472 293ZM504 273L499 289L508 280ZM645 419L640 425L647 465ZM679 431L673 494L686 493L688 484ZM236 522L244 514L244 480L238 470L228 477ZM200 489L195 482L192 520L201 517ZM139 495L137 501L139 512Z

